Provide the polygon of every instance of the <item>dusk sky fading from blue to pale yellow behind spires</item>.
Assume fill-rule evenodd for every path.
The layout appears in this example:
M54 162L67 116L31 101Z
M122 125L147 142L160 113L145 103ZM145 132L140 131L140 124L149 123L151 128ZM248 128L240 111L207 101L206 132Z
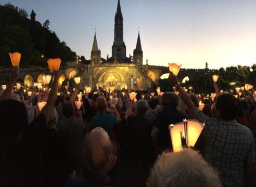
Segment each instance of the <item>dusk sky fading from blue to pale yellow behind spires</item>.
M101 57L111 56L117 0L0 0L24 8L78 55L89 59L94 28ZM138 27L143 64L221 68L256 63L256 1L121 0L126 56L133 55Z

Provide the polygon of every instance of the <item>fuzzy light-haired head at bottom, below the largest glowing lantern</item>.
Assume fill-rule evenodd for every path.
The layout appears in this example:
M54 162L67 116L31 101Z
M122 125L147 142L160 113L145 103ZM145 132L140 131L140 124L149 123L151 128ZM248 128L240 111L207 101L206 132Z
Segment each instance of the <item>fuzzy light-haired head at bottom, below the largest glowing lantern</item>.
M221 186L216 171L192 150L163 152L151 169L147 186Z

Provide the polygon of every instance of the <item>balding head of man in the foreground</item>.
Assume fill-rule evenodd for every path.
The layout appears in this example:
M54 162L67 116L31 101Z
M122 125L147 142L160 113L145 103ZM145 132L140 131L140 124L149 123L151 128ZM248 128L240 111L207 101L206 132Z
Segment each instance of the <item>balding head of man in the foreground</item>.
M110 169L116 164L113 144L108 133L100 127L84 138L85 173L96 184L104 184Z

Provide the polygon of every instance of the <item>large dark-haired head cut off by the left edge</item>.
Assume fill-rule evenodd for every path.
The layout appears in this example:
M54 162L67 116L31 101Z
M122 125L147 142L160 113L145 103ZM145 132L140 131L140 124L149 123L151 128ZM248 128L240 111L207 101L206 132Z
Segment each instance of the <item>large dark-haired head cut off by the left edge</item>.
M24 104L12 99L1 101L0 116L1 147L19 144L28 126L28 113Z

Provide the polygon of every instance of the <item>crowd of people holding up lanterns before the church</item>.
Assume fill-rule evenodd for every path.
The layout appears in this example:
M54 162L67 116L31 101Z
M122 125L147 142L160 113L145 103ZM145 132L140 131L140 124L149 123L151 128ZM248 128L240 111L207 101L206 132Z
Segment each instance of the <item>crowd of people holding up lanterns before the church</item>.
M178 95L135 89L133 98L100 87L83 94L79 84L58 94L60 75L28 96L14 89L12 70L0 90L1 186L256 186L250 91L235 98L214 83L214 99L188 94L170 72ZM204 128L194 148L173 152L169 125L185 118Z

